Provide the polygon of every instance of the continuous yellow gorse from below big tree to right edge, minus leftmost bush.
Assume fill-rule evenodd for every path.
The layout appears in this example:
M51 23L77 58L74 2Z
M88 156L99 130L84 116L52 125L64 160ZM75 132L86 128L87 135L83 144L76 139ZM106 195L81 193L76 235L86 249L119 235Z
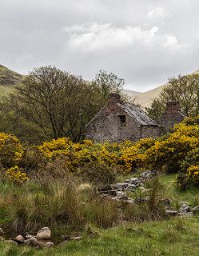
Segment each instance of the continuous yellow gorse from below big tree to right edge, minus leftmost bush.
M195 118L194 120L197 120ZM199 147L199 125L191 118L175 126L172 134L161 138L143 138L138 142L97 143L84 141L73 143L68 138L44 142L39 150L49 161L64 156L67 167L76 172L87 165L101 164L120 166L121 173L137 167L165 170L168 173L181 171L181 163ZM195 156L194 156L195 157Z

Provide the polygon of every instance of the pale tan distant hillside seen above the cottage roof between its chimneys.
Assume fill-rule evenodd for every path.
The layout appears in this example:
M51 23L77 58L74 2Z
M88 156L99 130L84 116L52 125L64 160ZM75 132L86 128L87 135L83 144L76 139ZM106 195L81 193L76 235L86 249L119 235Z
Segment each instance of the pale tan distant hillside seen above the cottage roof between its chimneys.
M199 70L193 72L192 74L199 74ZM143 108L149 107L153 102L153 99L157 98L158 95L161 93L161 90L167 85L168 83L163 86L158 86L153 90L147 90L144 93L138 94L136 102L140 104Z

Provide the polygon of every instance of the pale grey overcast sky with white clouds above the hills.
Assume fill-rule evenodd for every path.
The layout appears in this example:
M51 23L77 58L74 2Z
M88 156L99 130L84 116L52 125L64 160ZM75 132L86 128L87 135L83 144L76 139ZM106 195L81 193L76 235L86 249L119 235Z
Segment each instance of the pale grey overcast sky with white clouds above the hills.
M0 64L107 70L149 90L199 69L199 1L0 0Z

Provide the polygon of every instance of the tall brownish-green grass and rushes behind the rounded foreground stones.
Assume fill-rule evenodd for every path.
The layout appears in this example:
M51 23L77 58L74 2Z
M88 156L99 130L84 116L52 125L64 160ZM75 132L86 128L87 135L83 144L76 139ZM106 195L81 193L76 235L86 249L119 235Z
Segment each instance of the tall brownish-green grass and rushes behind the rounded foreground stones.
M1 189L2 187L2 189ZM165 218L153 182L149 201L139 205L101 197L92 186L78 180L46 179L23 186L0 185L0 220L6 230L36 233L49 226L54 233L82 232L87 225L110 228L122 222L143 222Z

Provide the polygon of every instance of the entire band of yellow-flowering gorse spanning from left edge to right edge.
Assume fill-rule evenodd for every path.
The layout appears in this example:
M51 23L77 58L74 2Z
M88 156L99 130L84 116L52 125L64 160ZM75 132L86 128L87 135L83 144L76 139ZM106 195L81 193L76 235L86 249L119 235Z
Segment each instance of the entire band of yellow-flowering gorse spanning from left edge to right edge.
M40 178L65 179L73 174L95 184L113 182L116 174L129 174L137 168L188 174L189 167L199 164L198 119L186 118L173 133L134 143L74 143L70 138L58 138L23 149L13 135L1 134L2 169L19 166L28 176Z

